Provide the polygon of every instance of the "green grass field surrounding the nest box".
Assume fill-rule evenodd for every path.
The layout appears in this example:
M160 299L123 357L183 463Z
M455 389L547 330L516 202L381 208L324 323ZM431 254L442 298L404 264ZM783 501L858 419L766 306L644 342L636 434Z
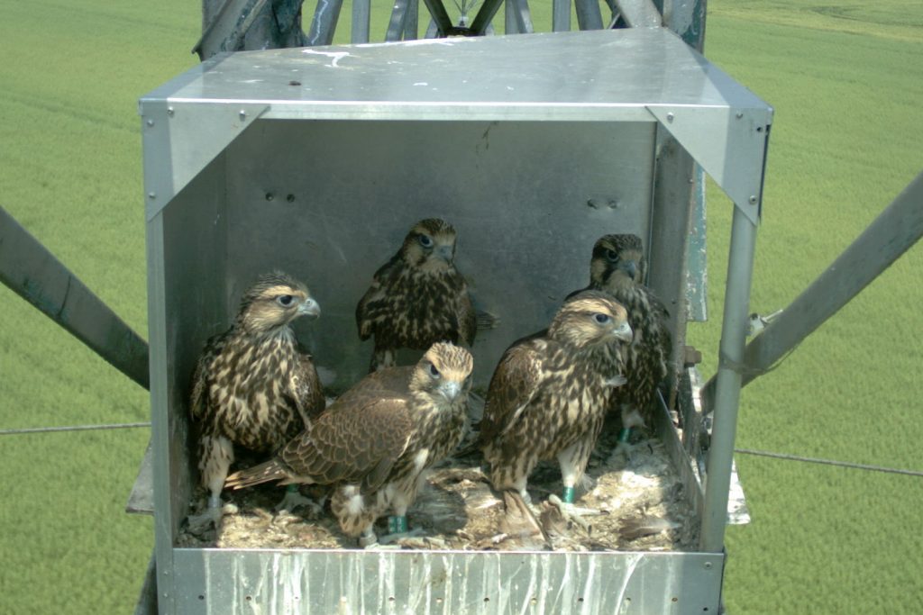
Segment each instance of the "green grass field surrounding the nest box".
M137 101L197 64L188 52L198 6L0 0L0 206L145 336ZM751 302L768 313L923 167L923 4L713 0L709 9L706 54L775 108ZM712 320L690 335L706 375L731 213L709 190ZM921 266L917 246L750 385L738 444L923 469ZM0 288L0 428L147 415L144 391ZM133 608L152 530L123 509L147 440L144 430L0 436L0 612ZM728 531L731 612L923 612L923 480L737 463L753 523Z

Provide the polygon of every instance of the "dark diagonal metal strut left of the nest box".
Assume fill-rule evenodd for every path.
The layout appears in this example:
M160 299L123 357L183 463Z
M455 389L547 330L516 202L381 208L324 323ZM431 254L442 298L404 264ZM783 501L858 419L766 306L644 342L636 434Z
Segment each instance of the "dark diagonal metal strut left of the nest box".
M0 207L0 282L148 388L148 344Z

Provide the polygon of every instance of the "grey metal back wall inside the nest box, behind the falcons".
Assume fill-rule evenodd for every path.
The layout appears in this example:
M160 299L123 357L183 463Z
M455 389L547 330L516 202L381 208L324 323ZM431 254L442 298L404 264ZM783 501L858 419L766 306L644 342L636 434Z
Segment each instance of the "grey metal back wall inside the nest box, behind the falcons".
M414 222L447 219L475 306L501 321L474 344L486 386L587 283L596 239L649 235L653 140L645 123L258 121L225 150L227 309L268 269L304 279L322 314L296 331L348 387L372 352L354 311L373 274Z

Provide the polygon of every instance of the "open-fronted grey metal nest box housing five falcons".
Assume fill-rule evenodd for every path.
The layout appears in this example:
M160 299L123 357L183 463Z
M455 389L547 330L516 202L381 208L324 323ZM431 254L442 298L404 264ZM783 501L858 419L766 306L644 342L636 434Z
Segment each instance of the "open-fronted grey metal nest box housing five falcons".
M139 106L161 612L718 611L732 366L771 107L665 29L224 54ZM687 271L687 159L736 205L710 484L696 496L701 551L175 546L193 489L191 374L258 274L281 268L309 284L324 315L296 332L342 390L368 365L354 308L375 269L415 220L448 219L474 301L501 322L473 348L485 386L509 343L586 284L593 242L634 232L680 357L689 287L703 284Z

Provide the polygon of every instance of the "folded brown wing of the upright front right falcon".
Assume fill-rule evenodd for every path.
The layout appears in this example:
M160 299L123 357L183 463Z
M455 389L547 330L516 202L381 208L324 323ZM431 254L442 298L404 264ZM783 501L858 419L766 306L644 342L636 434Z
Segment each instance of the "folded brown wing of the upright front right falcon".
M481 442L487 444L519 420L541 384L542 356L538 340L518 343L507 349L497 364L481 420Z

